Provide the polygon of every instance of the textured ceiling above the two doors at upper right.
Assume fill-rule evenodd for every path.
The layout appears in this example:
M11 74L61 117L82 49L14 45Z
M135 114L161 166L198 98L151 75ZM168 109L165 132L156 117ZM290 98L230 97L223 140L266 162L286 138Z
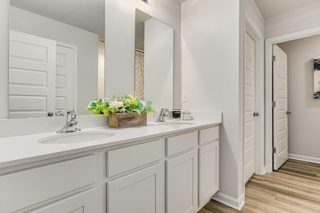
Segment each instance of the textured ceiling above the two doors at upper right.
M293 9L297 9L320 0L254 0L263 18L281 14Z

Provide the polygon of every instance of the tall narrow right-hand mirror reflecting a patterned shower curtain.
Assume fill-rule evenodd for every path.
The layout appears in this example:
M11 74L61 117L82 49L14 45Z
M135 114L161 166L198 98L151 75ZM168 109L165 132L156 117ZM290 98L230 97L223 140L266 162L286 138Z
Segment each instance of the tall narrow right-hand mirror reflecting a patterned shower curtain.
M173 106L173 28L135 9L135 96Z

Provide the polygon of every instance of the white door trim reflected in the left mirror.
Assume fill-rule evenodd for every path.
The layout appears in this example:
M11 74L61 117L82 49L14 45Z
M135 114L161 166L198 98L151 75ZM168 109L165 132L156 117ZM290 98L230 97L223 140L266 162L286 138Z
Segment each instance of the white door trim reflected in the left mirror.
M78 80L77 80L77 73L78 73L78 47L73 44L63 43L61 41L56 41L56 46L63 46L70 49L73 49L73 110L78 112L77 108L77 88L78 88ZM75 98L74 98L75 97Z

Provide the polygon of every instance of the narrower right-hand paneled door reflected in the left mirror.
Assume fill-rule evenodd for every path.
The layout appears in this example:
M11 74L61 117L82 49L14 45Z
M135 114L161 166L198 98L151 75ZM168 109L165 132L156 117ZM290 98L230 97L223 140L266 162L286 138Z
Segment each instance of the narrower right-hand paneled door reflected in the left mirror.
M55 111L75 110L73 106L74 49L56 45Z

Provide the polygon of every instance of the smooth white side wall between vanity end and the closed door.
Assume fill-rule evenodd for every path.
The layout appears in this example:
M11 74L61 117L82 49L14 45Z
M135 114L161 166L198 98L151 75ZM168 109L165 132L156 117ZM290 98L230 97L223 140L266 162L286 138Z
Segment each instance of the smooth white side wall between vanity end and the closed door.
M222 112L220 194L242 196L239 138L239 0L187 0L181 4L182 109ZM241 168L241 169L239 169Z

